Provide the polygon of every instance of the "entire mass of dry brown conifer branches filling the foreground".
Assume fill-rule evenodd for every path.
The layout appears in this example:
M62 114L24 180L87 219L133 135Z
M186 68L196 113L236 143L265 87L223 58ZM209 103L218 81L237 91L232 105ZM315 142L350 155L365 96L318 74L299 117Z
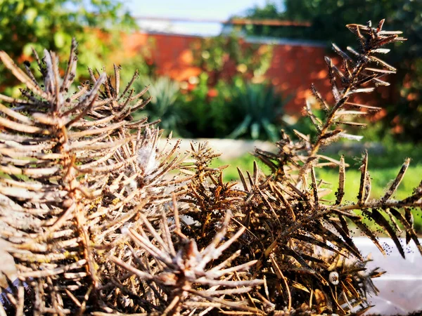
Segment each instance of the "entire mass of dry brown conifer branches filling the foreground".
M383 197L369 199L368 155L362 162L357 202L343 202L344 159L319 149L350 136L345 117L378 110L352 101L356 93L388 84L395 70L376 57L399 32L347 25L359 48L345 53L341 67L326 58L334 105L312 87L326 110L320 121L306 107L318 136L286 133L276 153L255 155L241 187L224 183L222 169L207 165L216 154L192 145L188 159L158 148L160 131L132 113L151 99L120 87L113 77L89 70L90 81L71 93L77 62L72 44L68 66L58 69L53 52L34 59L39 84L0 52L0 59L25 88L22 98L0 95L0 233L15 261L18 279L0 298L0 315L287 315L295 312L360 314L371 279L350 223L385 252L355 210L392 237L404 257L400 232L422 247L411 213L421 208L422 183L414 194L393 195L409 159ZM352 56L352 57L350 57ZM60 76L63 74L63 77ZM350 110L354 109L354 110ZM338 166L335 202L324 199L324 180L314 170Z

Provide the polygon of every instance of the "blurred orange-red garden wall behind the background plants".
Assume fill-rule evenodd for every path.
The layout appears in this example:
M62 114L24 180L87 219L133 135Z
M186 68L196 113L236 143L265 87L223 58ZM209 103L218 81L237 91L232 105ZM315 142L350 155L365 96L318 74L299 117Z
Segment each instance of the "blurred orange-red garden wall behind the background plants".
M191 76L200 74L200 68L192 65L191 48L198 37L176 34L136 33L124 38L126 58L136 54L150 52L157 66L158 74L166 75L178 81L186 81ZM273 59L266 77L285 96L293 99L286 105L289 114L298 114L310 95L309 86L314 83L328 102L333 100L327 77L322 46L276 44Z

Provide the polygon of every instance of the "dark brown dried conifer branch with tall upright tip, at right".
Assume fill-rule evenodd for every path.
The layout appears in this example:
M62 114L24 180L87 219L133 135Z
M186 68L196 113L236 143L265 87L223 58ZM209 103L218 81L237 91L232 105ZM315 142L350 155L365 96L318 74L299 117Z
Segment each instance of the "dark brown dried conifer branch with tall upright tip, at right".
M300 271L307 271L311 276L319 275L327 267L318 270L318 268L314 268L314 265L319 267L319 264L327 262L326 258L319 258L316 256L314 250L308 247L319 246L322 249L328 249L326 243L330 242L330 244L335 246L335 249L330 249L333 254L337 254L339 256L338 258L343 259L354 256L355 262L361 264L362 270L364 270L364 258L359 254L357 247L350 238L350 228L346 218L357 225L365 235L371 238L380 251L385 253L383 247L376 239L376 235L362 222L361 216L357 216L354 213L354 210L362 210L364 216L373 220L376 225L387 232L395 242L400 254L404 256L404 249L398 237L399 232L401 232L399 223L403 225L405 230L410 228L411 225L407 223L402 213L397 211L397 208L407 209L408 211L406 212L410 216L409 214L411 212L408 206L420 208L422 205L422 193L418 188L415 189L414 195L411 195L407 199L391 199L393 192L397 189L409 165L408 160L405 162L397 178L392 182L390 189L385 193L384 197L379 200L371 200L371 178L367 168L368 155L365 154L361 167L362 177L356 204L350 204L349 202L343 204L346 167L344 157L340 159L340 162L328 159L328 164L339 166L339 185L338 191L336 192L336 200L333 204L331 201L321 198L325 194L325 190L323 190L324 183L323 181L318 183L314 172L314 167L328 165L325 162L319 162L319 159L326 159L318 153L322 145L335 140L338 136L360 139L360 136L345 133L343 129L339 129L339 125L360 126L362 124L348 121L347 119L356 115L366 114L368 111L379 110L378 107L354 103L351 98L356 93L373 91L373 87L368 86L369 84L373 84L374 86L387 84L381 79L386 74L395 72L393 67L387 65L378 57L375 57L374 54L388 53L388 50L381 48L381 46L393 41L401 41L402 38L399 38L396 32L390 34L390 32L382 31L382 26L383 21L380 22L376 29L373 29L370 23L367 26L348 25L347 27L352 32L355 32L359 39L359 51L347 48L352 55L343 52L338 46L333 45L334 51L343 59L343 69L340 70L340 68L333 65L330 58L326 58L328 77L331 81L335 104L332 106L328 105L312 85L311 90L315 99L320 107L326 110L324 121L321 122L316 119L309 104L305 107L307 117L312 121L318 132L318 136L314 141L298 131L294 131L296 136L298 136L298 141L290 140L286 133L282 133L282 139L276 143L279 152L276 154L262 150L256 150L255 152L255 156L269 166L271 175L269 177L262 177L258 181L255 179L253 185L260 187L261 195L264 197L262 199L252 197L252 200L248 201L254 207L252 209L245 208L242 211L242 213L248 214L242 224L248 228L247 232L250 232L252 236L260 236L259 244L264 244L264 250L255 250L256 247L261 246L258 245L258 242L251 242L254 239L250 239L248 241L250 244L245 244L245 247L250 248L250 252L255 254L256 258L260 258L257 265L262 268L269 265L269 257L274 254L276 249L277 251L281 251L285 257L276 258L276 264L282 267L280 269L286 277L288 284L291 287L301 288L302 291L308 293L307 295L313 293L310 296L311 302L313 295L319 296L317 300L319 302L316 304L319 308L318 312L328 310L339 312L341 315L347 315L354 303L362 303L362 311L366 310L364 296L362 296L363 301L356 301L351 297L349 299L348 294L346 294L348 293L347 291L350 291L349 293L356 293L356 291L359 291L360 286L347 291L345 290L345 295L342 294L343 296L341 296L344 300L342 303L342 301L339 301L340 296L334 295L333 290L327 291L324 288L325 286L322 285L326 284L323 279L328 280L327 278L321 277L318 281L314 281L316 284L321 282L319 289L309 287L306 285L306 278L303 275L296 277L294 272L291 271L289 267L292 262L295 262L295 265L298 267L297 269ZM372 66L372 62L378 64L380 68ZM350 107L359 109L359 111L349 110ZM335 129L333 129L333 126L335 126ZM268 181L268 179L270 180ZM248 187L245 185L245 179L242 177L241 180L244 189L247 192L252 192L253 186ZM263 185L264 183L268 183L268 185ZM310 183L311 190L309 190L307 183ZM275 216L272 210L276 210ZM391 222L385 219L384 214L389 216ZM278 228L279 232L271 235L268 232L272 230L273 223L281 223L281 228ZM328 230L327 227L331 227L331 229ZM418 249L421 249L419 242L414 239L413 228L411 228L409 234L406 236L407 242L414 240ZM339 262L343 262L343 259ZM274 261L274 257L271 260ZM312 263L312 267L309 263ZM296 284L295 282L298 279L300 279L300 282ZM365 286L368 286L370 289L373 288L368 282L363 282L363 284L366 284ZM316 295L317 292L319 293L318 295ZM288 305L287 301L285 303ZM347 308L345 308L344 303L347 303Z

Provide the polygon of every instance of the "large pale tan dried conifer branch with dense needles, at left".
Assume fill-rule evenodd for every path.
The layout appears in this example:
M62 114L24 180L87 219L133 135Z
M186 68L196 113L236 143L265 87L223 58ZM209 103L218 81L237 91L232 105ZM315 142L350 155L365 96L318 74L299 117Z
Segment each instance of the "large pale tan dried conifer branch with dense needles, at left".
M13 286L17 296L11 296L6 311L23 313L23 301L34 300L36 314L82 314L95 309L92 296L102 287L106 262L98 249L119 244L116 230L135 223L139 211L151 213L171 199L163 194L164 176L180 161L170 160L174 150L168 157L158 151L158 130L146 128L145 120L127 120L146 104L142 94L119 103L122 95L100 74L91 88L85 84L68 96L75 78L75 41L61 84L56 55L44 51L42 62L36 55L44 90L28 65L24 74L6 53L0 58L34 94L23 90L32 103L3 98L20 107L0 106L0 191L7 202L1 206L1 237L11 244L19 277L30 279L25 291L22 284ZM33 105L36 110L29 111ZM141 137L132 136L134 127ZM151 192L160 200L149 199ZM141 197L143 203L136 205L133 199Z

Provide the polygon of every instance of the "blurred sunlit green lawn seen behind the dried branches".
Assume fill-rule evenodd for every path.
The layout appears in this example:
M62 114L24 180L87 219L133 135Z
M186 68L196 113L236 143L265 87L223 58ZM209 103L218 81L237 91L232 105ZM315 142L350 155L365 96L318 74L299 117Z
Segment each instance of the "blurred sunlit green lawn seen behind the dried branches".
M341 152L338 154L330 154L329 156L340 159ZM385 190L388 188L392 180L395 179L399 172L404 159L412 157L409 169L400 183L397 191L395 192L396 199L403 199L412 194L415 187L421 183L422 180L422 146L412 144L395 144L385 149L383 154L369 154L369 173L371 175L371 195L370 199L379 199L384 195ZM238 166L243 173L246 171L252 172L253 162L257 162L260 169L268 174L269 169L252 154L245 154L236 159L223 160L215 159L211 166L222 166L229 164L224 169L223 176L225 181L239 180ZM345 161L350 166L346 169L346 182L345 182L345 197L343 202L356 202L357 193L359 191L361 156L345 157ZM335 192L338 189L338 169L324 168L316 169L316 178L324 179L325 182L330 183L324 187L332 190L329 195L324 199L335 200ZM415 228L419 234L422 233L422 214L421 212L414 213Z

